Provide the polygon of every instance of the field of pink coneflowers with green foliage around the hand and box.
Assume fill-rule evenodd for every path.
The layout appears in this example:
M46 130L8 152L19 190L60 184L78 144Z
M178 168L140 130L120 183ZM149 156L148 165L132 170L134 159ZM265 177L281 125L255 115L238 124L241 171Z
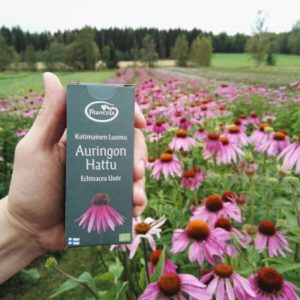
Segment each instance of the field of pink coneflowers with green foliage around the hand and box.
M148 208L132 244L100 249L105 272L75 278L49 258L68 278L52 296L82 286L94 299L299 299L300 83L271 89L142 68L109 82L137 83ZM33 91L0 99L2 195L42 101Z

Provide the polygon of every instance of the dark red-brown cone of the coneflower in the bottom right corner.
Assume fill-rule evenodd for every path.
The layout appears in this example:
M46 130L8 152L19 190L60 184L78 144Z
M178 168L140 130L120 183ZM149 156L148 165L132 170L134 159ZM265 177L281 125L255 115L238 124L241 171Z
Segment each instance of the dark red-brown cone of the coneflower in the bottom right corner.
M261 268L257 272L256 283L264 292L276 293L282 288L283 278L272 268Z

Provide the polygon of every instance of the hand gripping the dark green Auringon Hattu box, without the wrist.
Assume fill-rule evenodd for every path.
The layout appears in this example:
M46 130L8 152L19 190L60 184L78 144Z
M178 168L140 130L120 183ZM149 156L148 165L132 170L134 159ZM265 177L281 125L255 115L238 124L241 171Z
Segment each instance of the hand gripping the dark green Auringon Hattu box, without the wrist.
M41 251L64 248L64 184L66 151L66 93L59 79L44 74L45 100L27 135L18 143L7 198L7 221L23 237L37 242ZM134 215L142 213L147 148L138 128L145 126L135 112Z

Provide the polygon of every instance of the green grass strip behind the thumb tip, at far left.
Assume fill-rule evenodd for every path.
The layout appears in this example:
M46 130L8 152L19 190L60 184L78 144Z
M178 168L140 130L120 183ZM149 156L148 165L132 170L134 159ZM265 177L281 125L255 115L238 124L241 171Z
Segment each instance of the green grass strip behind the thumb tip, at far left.
M26 95L28 89L38 93L43 91L42 72L2 72L0 73L0 98L10 95ZM115 76L114 71L101 72L56 72L62 83L103 82Z

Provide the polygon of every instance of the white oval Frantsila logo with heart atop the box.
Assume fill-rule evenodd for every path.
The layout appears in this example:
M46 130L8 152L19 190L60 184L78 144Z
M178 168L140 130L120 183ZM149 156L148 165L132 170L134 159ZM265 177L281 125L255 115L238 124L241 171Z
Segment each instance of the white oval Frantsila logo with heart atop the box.
M87 105L84 112L90 120L106 123L111 122L118 116L119 109L109 102L95 101Z

